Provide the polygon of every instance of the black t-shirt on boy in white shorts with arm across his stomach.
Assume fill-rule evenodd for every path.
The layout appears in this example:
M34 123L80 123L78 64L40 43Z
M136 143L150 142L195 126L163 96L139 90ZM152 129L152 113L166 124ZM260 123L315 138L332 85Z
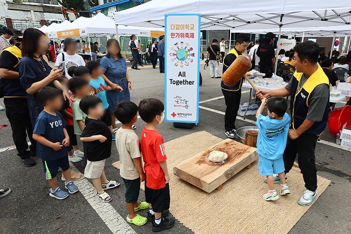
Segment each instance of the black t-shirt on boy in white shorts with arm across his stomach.
M89 161L101 161L111 156L112 135L111 130L100 119L85 118L85 128L80 137L102 135L107 138L105 142L99 140L83 142L84 155Z

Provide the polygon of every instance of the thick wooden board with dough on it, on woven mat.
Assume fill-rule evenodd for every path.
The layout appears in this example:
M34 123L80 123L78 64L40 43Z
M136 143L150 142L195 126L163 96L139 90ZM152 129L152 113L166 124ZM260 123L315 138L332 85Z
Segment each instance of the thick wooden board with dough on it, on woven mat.
M210 152L214 150L228 154L228 158L224 163L214 163L207 159ZM179 178L211 193L257 159L256 148L232 139L225 139L203 152L178 163L173 168L173 172Z

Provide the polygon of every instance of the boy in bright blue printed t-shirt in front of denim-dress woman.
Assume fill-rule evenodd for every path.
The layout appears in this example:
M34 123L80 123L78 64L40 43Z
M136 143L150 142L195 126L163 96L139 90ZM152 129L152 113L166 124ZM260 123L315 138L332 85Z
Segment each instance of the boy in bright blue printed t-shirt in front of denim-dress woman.
M101 99L102 107L105 112L103 117L101 117L101 121L104 122L111 129L111 111L110 106L107 102L106 91L105 90L113 90L111 86L108 86L105 80L101 77L103 75L103 71L101 69L100 63L97 61L88 61L85 64L86 68L89 69L90 73L90 82L89 84L96 89L96 96ZM115 136L112 136L112 140L115 140Z

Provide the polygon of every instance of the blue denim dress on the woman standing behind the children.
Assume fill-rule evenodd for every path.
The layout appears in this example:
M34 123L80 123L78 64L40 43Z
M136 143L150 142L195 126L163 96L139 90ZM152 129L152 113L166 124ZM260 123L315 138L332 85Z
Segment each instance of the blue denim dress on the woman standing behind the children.
M113 113L113 109L117 103L125 100L130 101L130 92L126 79L127 64L124 58L118 58L116 60L112 56L110 56L110 58L102 58L100 64L102 70L105 71L105 76L111 80L112 83L118 84L123 88L122 92L119 92L119 90L106 90L107 102Z

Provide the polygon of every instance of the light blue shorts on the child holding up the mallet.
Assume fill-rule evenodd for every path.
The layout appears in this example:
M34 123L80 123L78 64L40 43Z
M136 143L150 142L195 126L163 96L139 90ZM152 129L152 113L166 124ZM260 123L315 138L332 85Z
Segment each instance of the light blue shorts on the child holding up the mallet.
M258 156L258 173L262 176L273 176L285 171L283 156L278 159L268 159Z

